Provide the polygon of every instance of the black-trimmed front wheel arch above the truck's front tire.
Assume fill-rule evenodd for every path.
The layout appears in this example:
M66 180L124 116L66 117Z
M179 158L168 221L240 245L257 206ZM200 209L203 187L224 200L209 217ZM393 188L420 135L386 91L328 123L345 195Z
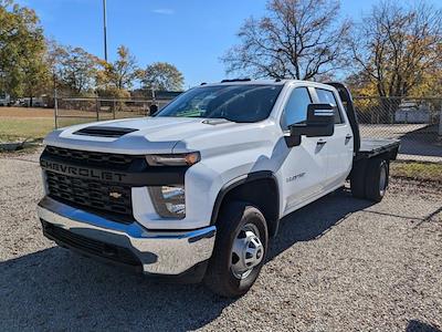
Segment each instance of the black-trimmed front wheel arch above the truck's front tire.
M244 200L259 207L265 217L269 235L275 236L280 225L280 190L277 179L270 170L250 173L227 183L214 201L211 225L229 200Z

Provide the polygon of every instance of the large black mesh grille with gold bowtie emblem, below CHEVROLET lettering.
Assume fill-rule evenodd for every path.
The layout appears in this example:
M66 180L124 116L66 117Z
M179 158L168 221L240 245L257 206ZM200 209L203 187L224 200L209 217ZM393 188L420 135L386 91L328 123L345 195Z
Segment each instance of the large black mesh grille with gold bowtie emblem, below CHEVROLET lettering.
M46 170L49 196L87 210L112 214L113 220L133 221L131 189L99 180L71 177Z

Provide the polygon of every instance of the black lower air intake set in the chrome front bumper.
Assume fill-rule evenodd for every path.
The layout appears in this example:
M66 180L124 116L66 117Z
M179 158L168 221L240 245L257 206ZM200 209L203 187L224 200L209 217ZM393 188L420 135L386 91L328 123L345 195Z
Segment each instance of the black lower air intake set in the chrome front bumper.
M138 258L127 248L94 240L41 220L46 237L67 247L133 267L140 266Z

